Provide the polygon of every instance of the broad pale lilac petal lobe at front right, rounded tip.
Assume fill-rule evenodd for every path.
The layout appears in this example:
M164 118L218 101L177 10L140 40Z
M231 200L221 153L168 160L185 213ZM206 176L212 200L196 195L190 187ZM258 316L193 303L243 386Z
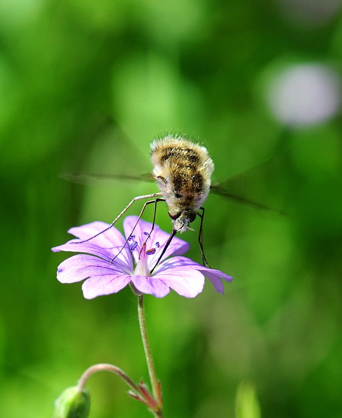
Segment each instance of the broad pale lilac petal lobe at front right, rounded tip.
M157 273L155 279L162 280L167 286L186 298L194 298L202 292L204 276L197 270L171 269Z

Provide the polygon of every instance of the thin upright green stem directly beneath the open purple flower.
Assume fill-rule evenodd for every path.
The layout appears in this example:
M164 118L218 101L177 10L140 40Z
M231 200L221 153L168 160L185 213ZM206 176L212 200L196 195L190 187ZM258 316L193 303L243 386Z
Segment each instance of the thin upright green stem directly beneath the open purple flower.
M148 337L147 328L146 328L144 295L138 295L138 314L139 314L141 338L143 340L145 357L147 361L147 368L149 370L150 381L151 381L151 386L152 386L152 393L153 393L155 400L160 402L158 380L157 380L156 373L155 373L155 363L153 361L149 337ZM161 414L161 411L160 411L160 414ZM156 415L156 417L162 417L162 415Z

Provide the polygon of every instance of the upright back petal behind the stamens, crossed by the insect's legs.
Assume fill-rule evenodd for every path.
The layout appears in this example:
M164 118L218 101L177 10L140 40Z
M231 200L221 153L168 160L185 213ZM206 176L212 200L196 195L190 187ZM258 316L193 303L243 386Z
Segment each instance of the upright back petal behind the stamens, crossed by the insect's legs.
M134 228L134 225L137 221L137 216L127 216L124 219L124 233L125 236L128 237L132 234L132 230ZM139 247L136 248L136 250L133 250L133 257L135 261L137 262L139 259L139 251L142 246L143 241L147 238L148 234L151 232L152 229L152 223L144 221L143 219L140 219L138 222L138 225L134 229L133 235L135 235L135 239L138 239ZM147 233L147 234L144 234ZM167 232L162 231L158 225L155 224L155 228L151 234L151 237L148 239L146 245L147 249L155 248L156 251L154 254L149 255L148 257L148 265L149 268L152 269L155 267L155 263L158 261L158 258L160 256L161 251L164 248L164 245L166 241L168 240L170 234ZM159 246L156 245L156 243L159 243ZM163 255L162 260L165 260L167 257L171 255L182 255L185 254L188 249L190 248L190 245L184 241L183 239L180 239L178 237L174 237L172 239L168 249L165 251L165 254Z

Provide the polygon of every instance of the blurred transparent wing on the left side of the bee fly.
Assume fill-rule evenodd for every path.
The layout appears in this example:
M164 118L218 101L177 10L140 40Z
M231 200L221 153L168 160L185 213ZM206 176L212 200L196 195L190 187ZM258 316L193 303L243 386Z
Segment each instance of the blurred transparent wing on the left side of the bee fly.
M116 187L134 181L153 182L149 161L149 139L142 152L112 119L92 121L78 146L69 149L60 178L96 187ZM145 173L145 174L142 174ZM125 181L127 180L127 182ZM133 180L133 181L132 181Z

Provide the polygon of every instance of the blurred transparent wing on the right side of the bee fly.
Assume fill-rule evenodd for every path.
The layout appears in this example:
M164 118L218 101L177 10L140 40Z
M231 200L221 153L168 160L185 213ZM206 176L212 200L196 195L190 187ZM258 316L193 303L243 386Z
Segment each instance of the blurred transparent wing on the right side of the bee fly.
M321 139L305 141L305 144L214 183L211 192L257 209L293 215L297 200L311 191L316 181L313 177L324 168L323 161L329 161L333 152L331 147L332 144Z

